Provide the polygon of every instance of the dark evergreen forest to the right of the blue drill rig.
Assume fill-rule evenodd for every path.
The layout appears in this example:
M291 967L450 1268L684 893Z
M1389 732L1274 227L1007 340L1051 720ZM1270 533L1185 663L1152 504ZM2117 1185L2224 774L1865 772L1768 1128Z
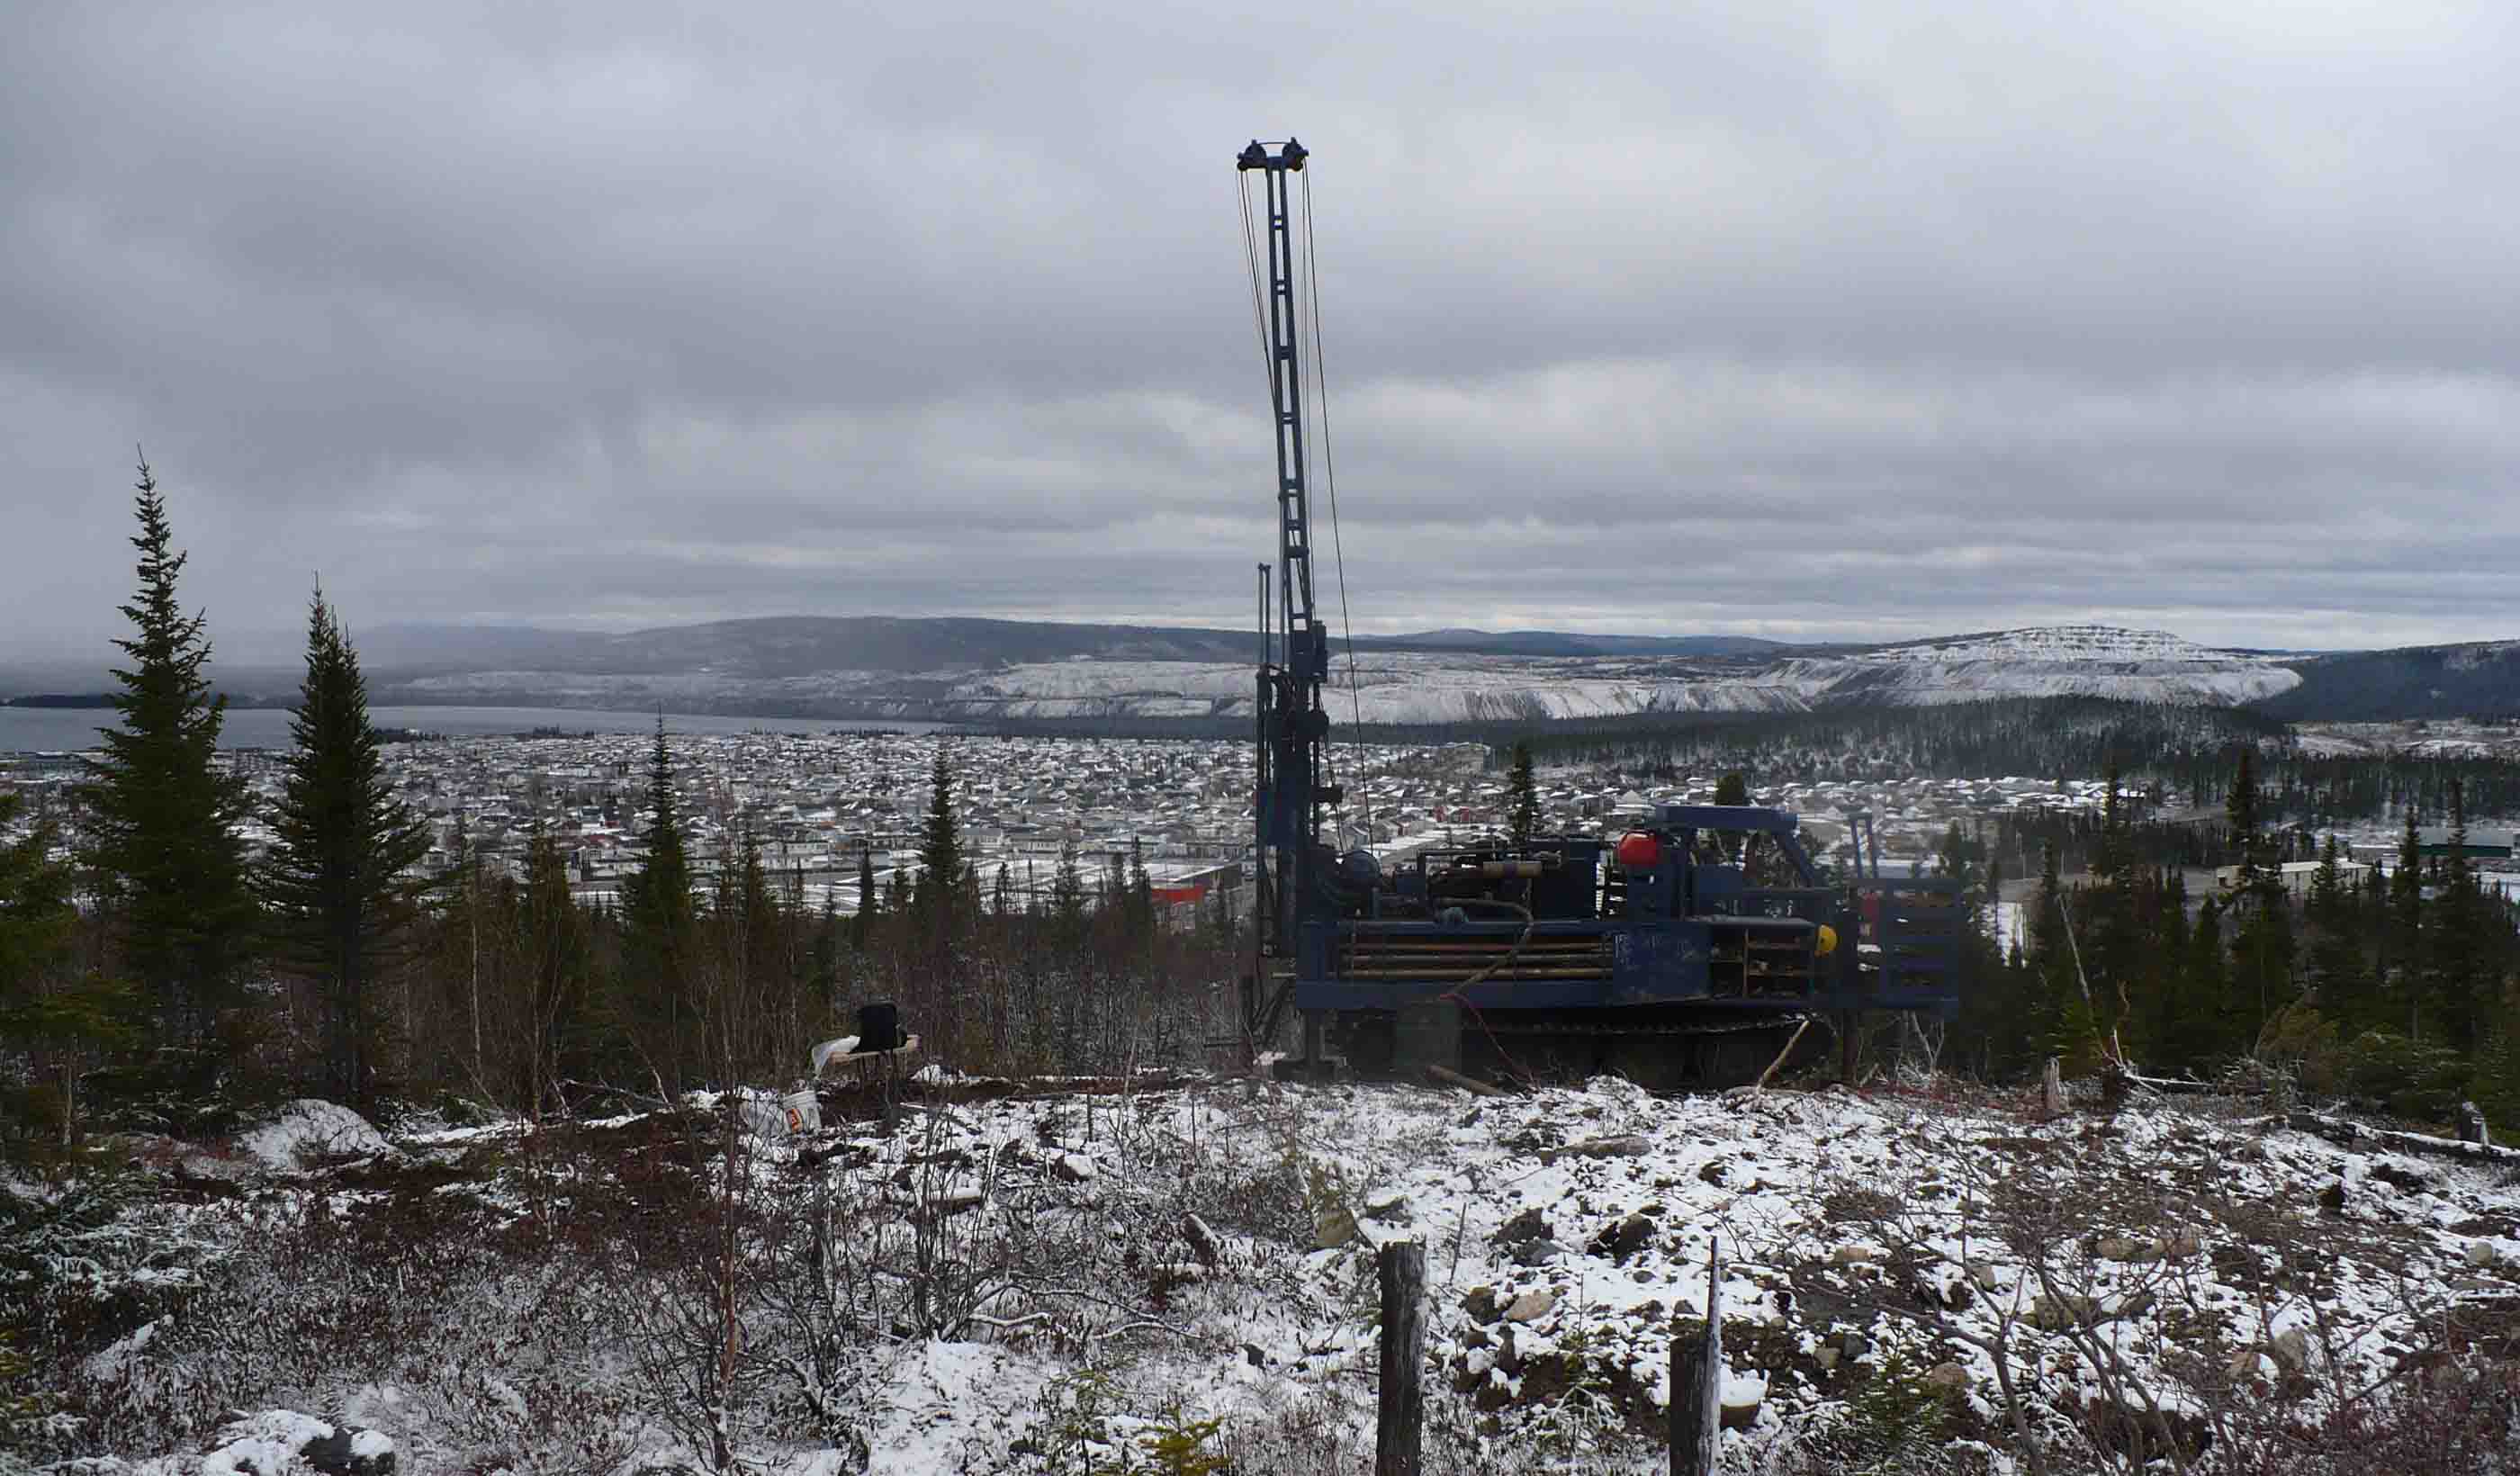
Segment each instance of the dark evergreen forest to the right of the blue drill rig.
M2442 856L2402 811L2394 864L2351 869L2334 834L2268 821L2278 786L2240 751L2220 824L2041 814L1945 834L1938 869L1983 904L2031 859L2024 940L1971 937L1945 1065L2019 1078L2122 1060L2152 1076L2283 1073L2303 1088L2444 1121L2460 1101L2520 1128L2520 904L2465 856L2467 798L2442 778ZM2286 861L2316 861L2286 887ZM2235 877L2190 894L2187 871ZM2011 871L2029 874L2029 871ZM2079 877L2066 882L2066 877Z

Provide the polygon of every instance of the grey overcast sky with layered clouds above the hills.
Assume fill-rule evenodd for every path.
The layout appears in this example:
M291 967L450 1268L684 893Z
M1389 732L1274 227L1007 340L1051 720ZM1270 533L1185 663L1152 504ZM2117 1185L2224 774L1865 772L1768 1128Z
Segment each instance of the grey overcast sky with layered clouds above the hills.
M0 655L1247 625L1290 131L1356 630L2520 637L2507 0L1303 10L18 0Z

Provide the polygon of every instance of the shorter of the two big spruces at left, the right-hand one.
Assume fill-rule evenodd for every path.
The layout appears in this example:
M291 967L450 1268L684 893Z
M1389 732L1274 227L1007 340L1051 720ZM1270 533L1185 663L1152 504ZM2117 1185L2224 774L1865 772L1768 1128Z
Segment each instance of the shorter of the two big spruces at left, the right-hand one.
M368 1111L383 1053L381 975L416 919L428 826L386 778L358 652L320 587L307 602L307 670L290 741L260 874L275 962L315 990L323 1086Z

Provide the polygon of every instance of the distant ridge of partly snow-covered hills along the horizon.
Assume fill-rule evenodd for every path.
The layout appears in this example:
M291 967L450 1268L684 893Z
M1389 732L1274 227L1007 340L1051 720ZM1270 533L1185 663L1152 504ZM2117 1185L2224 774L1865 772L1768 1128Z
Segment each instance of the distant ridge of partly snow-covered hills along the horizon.
M378 703L963 723L1247 720L1257 657L1255 632L980 617L766 617L620 635L388 625L358 645ZM1875 645L1424 630L1356 637L1353 667L1348 642L1333 642L1333 718L1394 725L2044 695L2253 705L2296 720L2520 710L2520 642L2265 652L2114 625ZM222 683L234 690L229 673ZM18 690L76 688L45 673L45 685Z

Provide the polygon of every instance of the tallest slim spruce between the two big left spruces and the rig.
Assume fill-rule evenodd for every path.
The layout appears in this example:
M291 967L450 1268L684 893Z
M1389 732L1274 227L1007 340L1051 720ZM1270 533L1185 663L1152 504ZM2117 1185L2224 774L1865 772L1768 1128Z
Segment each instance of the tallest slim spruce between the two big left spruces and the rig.
M703 1063L706 1043L698 904L663 715L648 758L648 816L638 871L622 879L622 977L615 1013L630 1053L622 1065L678 1086Z

